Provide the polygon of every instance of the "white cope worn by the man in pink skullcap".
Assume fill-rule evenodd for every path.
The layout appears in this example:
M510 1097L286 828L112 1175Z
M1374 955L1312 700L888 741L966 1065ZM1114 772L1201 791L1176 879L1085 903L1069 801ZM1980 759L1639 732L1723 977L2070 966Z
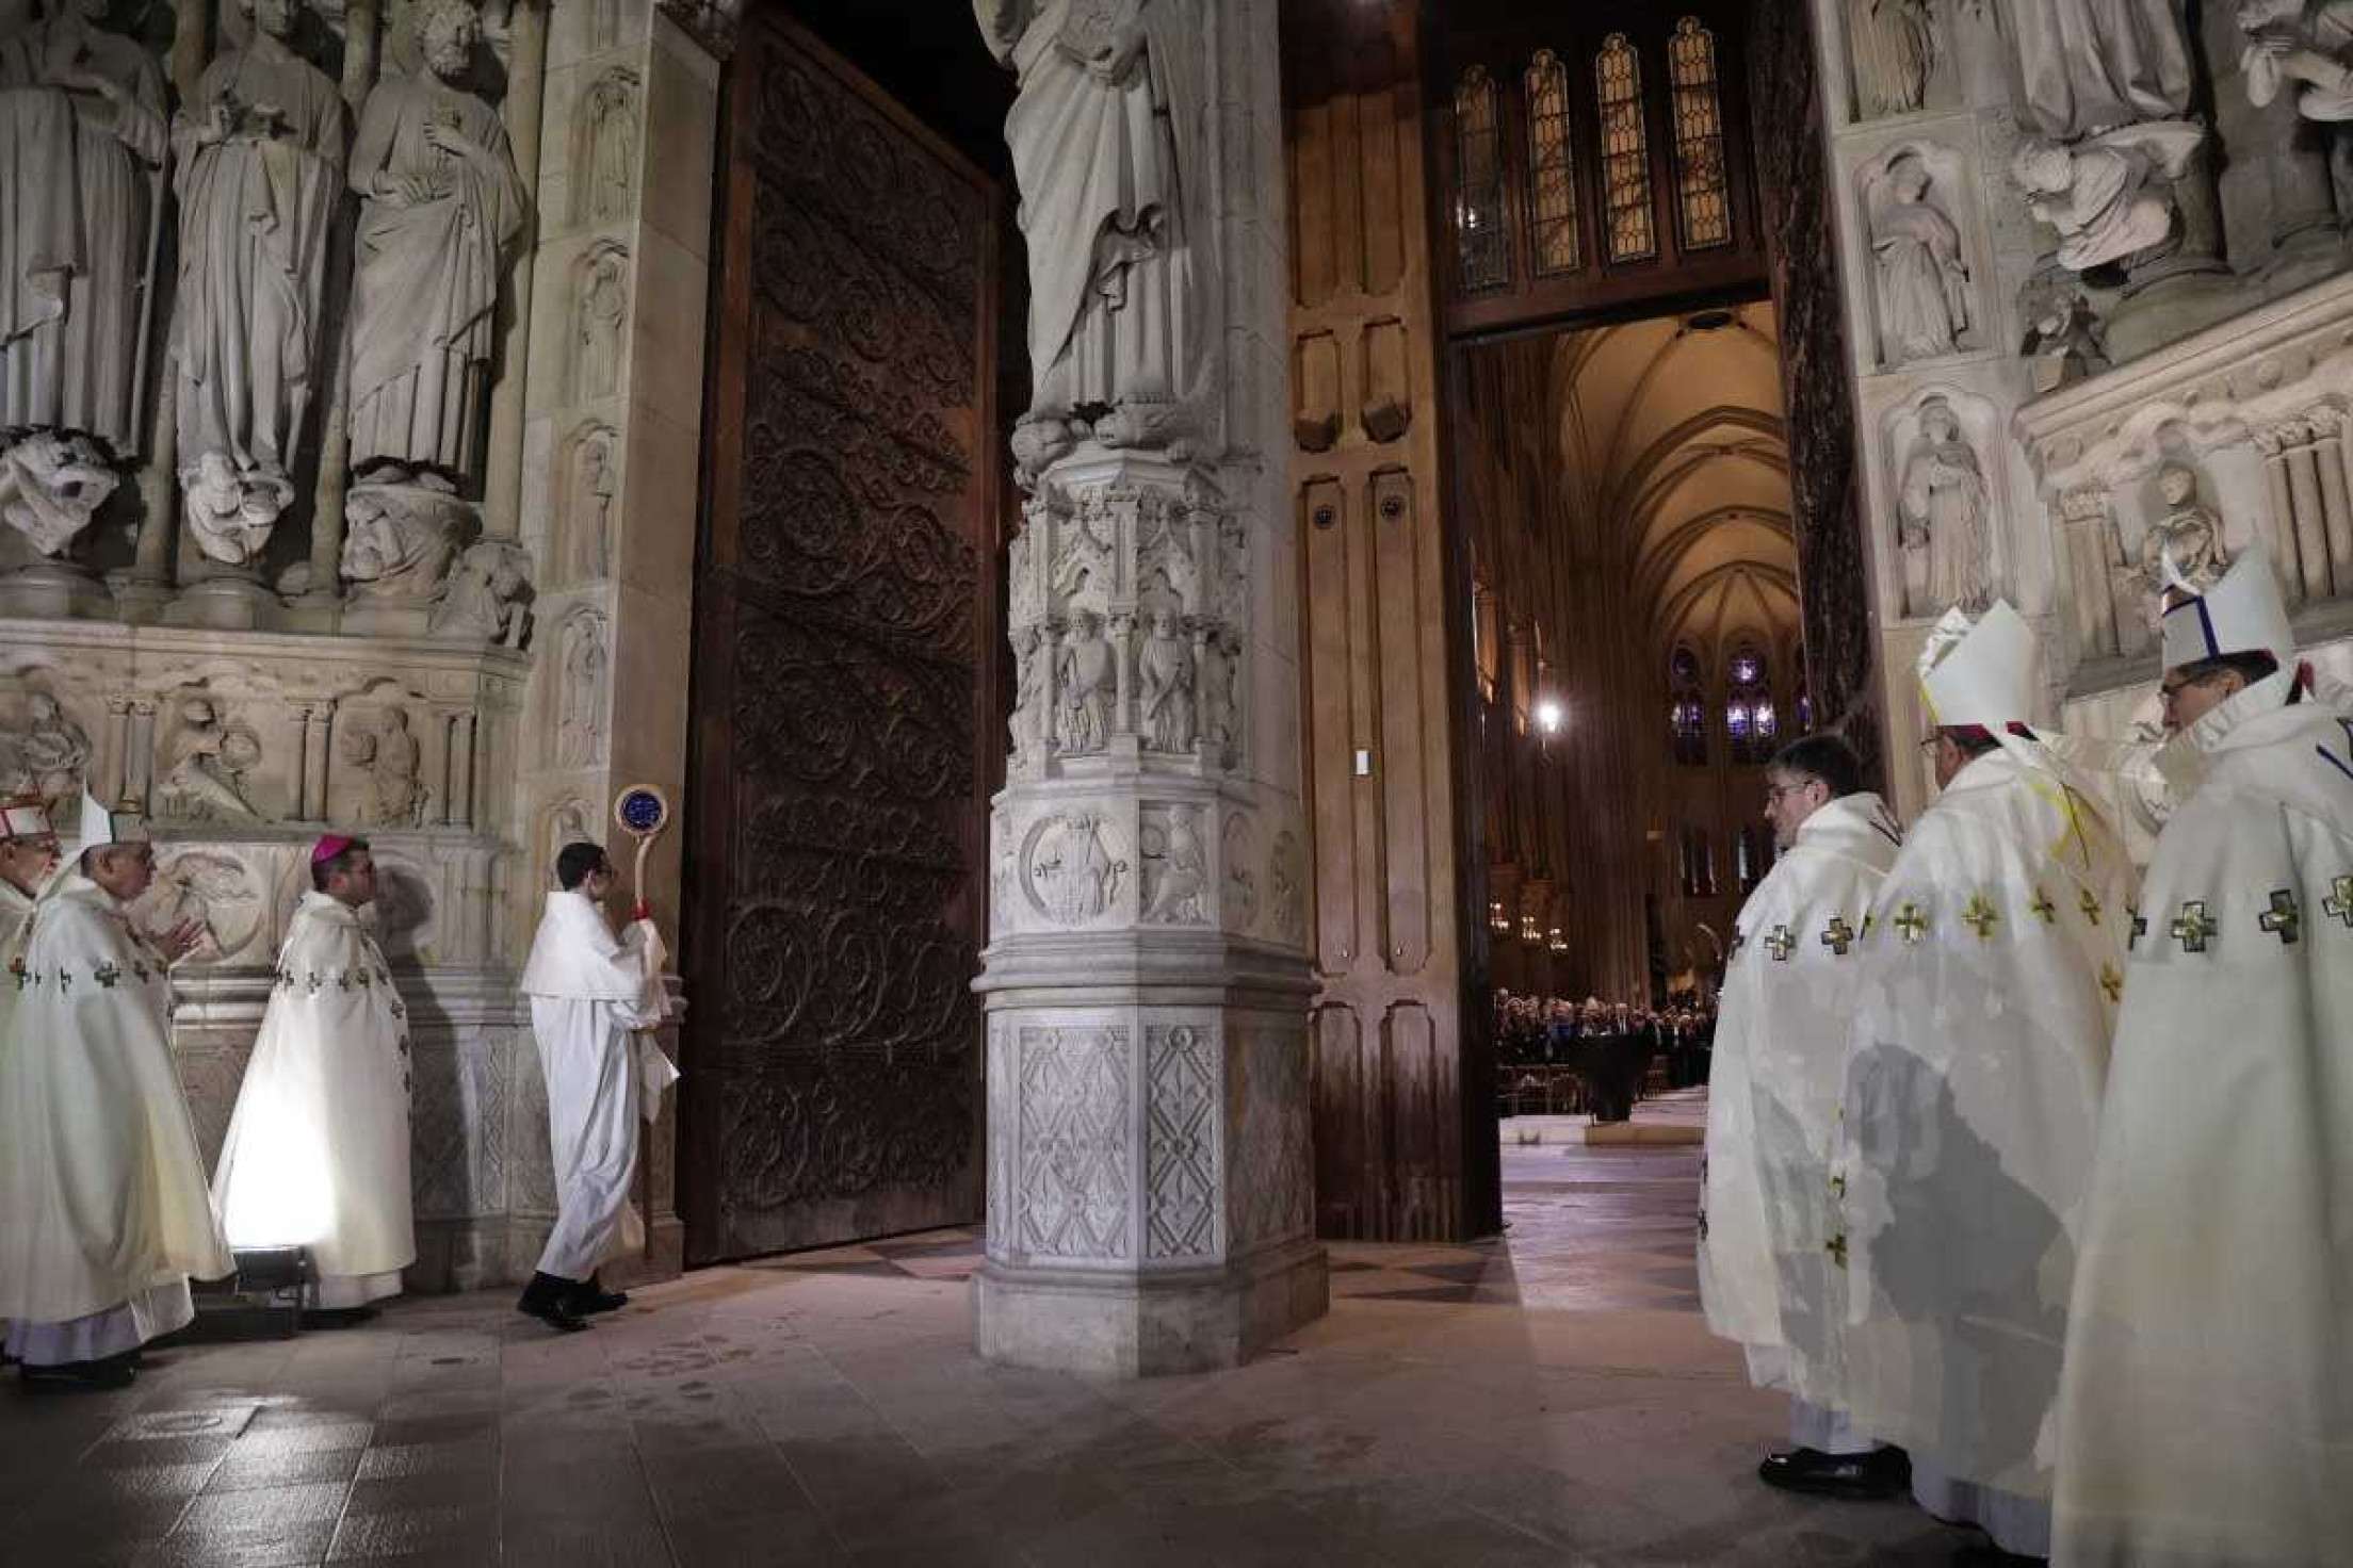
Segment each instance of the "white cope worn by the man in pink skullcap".
M400 1291L409 1215L409 1020L355 910L294 907L212 1175L231 1246L306 1246L322 1307Z

